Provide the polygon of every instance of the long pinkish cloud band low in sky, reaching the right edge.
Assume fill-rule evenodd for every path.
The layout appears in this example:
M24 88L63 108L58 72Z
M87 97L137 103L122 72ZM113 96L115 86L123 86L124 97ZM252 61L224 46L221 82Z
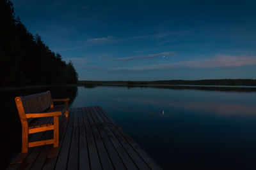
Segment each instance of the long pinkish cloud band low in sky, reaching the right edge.
M117 67L116 70L152 70L152 69L171 69L179 67L193 67L193 68L211 68L211 67L231 67L231 66L253 66L256 65L256 56L230 56L217 55L216 57L199 60L189 60L182 62L171 62L168 64L157 64L140 67Z

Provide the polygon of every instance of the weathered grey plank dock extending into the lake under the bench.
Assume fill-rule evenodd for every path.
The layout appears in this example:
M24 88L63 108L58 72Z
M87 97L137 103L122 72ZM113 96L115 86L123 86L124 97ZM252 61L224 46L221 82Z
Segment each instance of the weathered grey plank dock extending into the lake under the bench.
M52 118L45 118L51 123ZM52 138L40 132L31 140ZM19 142L19 141L17 141ZM161 169L99 106L71 108L60 120L60 146L19 153L7 169Z

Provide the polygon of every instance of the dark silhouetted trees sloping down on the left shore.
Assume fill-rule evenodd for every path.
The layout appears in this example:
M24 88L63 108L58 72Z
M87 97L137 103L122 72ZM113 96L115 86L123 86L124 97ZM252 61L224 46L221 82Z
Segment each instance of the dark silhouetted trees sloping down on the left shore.
M71 60L52 52L15 16L13 4L0 0L0 86L77 83Z

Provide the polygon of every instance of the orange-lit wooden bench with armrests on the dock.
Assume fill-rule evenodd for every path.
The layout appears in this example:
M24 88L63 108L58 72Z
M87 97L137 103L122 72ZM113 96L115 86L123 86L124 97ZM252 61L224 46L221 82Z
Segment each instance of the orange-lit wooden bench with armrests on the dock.
M59 146L59 118L65 114L68 117L69 99L52 99L51 92L42 92L29 96L15 97L15 103L22 124L22 153L27 153L29 147L53 144ZM65 102L54 106L53 102ZM53 117L53 124L45 124L44 118ZM37 122L33 124L32 122ZM53 139L29 142L29 134L53 130Z

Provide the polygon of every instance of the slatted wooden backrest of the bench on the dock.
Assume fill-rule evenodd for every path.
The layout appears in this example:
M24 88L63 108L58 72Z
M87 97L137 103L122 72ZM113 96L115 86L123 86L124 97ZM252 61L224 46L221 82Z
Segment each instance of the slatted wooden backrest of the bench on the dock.
M19 112L20 121L26 120L26 113L42 113L52 104L51 92L31 94L29 96L15 97L15 103Z

